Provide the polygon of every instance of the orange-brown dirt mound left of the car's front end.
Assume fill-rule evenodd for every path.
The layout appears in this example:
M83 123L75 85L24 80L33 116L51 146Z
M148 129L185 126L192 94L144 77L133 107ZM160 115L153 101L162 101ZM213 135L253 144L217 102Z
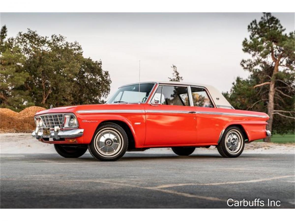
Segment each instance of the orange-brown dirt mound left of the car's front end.
M0 132L21 133L32 132L35 128L34 115L45 108L31 106L19 113L8 108L0 108Z

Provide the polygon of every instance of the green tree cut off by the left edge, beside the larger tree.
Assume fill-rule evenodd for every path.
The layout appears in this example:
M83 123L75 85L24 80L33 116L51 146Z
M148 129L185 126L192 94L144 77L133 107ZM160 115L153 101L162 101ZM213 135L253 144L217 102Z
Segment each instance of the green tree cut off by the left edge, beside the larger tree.
M2 108L20 111L33 105L25 82L29 73L24 71L25 57L20 48L13 44L13 39L6 39L7 29L1 28L0 54L0 104Z

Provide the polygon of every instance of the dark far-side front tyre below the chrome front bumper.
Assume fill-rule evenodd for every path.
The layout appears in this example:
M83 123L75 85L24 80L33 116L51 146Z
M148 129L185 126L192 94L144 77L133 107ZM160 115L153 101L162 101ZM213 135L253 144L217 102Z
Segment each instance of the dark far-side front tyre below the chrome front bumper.
M79 145L79 146L73 146L73 145L62 145L62 144L54 144L54 149L56 152L65 158L78 158L85 154L87 151L86 145Z

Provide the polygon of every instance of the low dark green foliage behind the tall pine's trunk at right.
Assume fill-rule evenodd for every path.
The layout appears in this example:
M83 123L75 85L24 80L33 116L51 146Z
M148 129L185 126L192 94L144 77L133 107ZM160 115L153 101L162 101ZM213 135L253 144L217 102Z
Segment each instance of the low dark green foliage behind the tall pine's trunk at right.
M267 113L268 106L268 85L262 85L260 87L254 87L261 83L260 78L270 76L273 73L273 67L263 67L263 73L260 71L252 73L248 78L242 79L237 77L232 85L230 93L223 93L225 98L232 104L236 109L240 110L252 110ZM288 78L287 78L288 77ZM284 77L284 81L276 81L276 87L279 88L284 94L290 97L282 99L280 96L275 94L274 104L277 109L283 110L282 113L286 116L280 116L275 114L273 118L273 133L294 133L294 78L292 75ZM293 85L288 87L286 85Z

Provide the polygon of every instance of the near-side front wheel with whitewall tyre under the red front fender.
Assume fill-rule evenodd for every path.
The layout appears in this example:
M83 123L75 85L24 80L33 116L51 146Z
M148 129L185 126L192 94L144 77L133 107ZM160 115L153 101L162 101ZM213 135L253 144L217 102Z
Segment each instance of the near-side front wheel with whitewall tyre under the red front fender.
M88 149L90 154L101 161L120 159L128 147L124 129L115 123L103 123L94 133Z

